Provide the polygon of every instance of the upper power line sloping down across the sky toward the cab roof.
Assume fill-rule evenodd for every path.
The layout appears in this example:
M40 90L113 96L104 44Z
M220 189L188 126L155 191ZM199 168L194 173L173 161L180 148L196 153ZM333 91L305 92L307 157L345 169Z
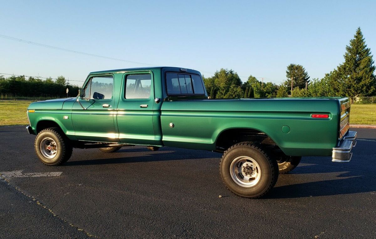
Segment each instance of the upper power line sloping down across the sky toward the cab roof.
M59 50L59 51L66 51L66 52L71 52L71 53L76 53L76 54L81 54L81 55L87 55L87 56L91 56L91 57L99 57L99 58L103 58L103 59L107 59L107 60L123 61L123 62L134 63L134 64L142 64L142 65L146 65L146 66L158 66L158 65L155 65L155 64L144 63L144 62L139 62L139 61L130 61L130 60L118 59L118 58L113 58L113 57L106 57L106 56L102 56L102 55L96 55L96 54L91 54L91 53L86 53L86 52L81 52L81 51L74 51L74 50L70 50L70 49L66 49L66 48L61 48L61 47L58 47L58 46L50 46L50 45L46 45L46 44L42 44L42 43L38 43L38 42L32 42L32 41L28 41L28 40L23 40L23 39L11 37L11 36L6 36L6 35L2 35L2 34L0 34L0 37L2 37L4 39L8 39L8 40L14 40L14 41L17 41L17 42L23 42L23 43L35 45L35 46L41 46L41 47L55 49L55 50ZM212 72L206 72L206 71L200 71L200 72L208 73L208 74L214 74ZM239 77L248 78L249 76L239 76ZM265 77L255 77L255 78L266 79Z

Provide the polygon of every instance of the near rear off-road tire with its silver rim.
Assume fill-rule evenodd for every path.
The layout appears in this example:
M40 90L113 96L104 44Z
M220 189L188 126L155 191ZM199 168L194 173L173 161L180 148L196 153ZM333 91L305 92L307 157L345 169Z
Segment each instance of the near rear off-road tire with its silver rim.
M278 179L277 161L250 142L238 143L227 149L219 168L226 187L241 197L262 197Z

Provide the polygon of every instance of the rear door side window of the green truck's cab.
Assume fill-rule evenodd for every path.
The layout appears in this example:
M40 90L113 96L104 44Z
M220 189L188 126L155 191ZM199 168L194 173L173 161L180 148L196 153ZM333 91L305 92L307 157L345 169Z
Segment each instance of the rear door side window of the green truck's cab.
M125 99L148 99L152 88L152 75L127 75L125 79Z

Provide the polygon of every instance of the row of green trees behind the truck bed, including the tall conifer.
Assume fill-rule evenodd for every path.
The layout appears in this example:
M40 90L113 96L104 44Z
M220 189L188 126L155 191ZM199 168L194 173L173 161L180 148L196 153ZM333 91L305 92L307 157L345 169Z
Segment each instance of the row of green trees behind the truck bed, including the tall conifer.
M233 70L220 69L214 76L205 78L206 90L211 99L259 97L364 97L376 95L375 66L370 48L367 48L360 28L346 46L344 63L327 73L322 79L312 79L305 68L290 64L286 80L280 84L261 82L250 75L246 82Z

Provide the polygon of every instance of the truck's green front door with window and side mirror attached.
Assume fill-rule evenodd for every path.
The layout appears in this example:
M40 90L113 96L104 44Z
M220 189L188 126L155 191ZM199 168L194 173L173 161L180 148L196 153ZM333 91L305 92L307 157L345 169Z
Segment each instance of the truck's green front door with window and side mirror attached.
M72 108L72 122L78 140L118 142L115 130L114 75L89 78L85 96Z

